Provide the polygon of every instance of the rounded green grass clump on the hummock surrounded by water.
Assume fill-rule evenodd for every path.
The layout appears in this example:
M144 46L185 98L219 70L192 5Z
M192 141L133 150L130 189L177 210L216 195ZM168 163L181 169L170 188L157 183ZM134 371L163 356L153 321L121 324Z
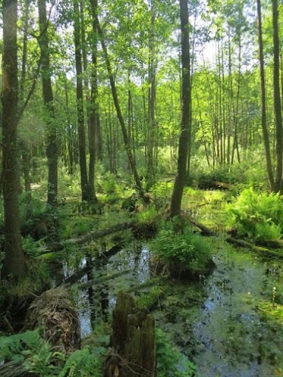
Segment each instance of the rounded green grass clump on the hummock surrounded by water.
M167 271L174 277L189 277L212 263L210 244L190 227L180 233L161 229L151 245L157 273Z

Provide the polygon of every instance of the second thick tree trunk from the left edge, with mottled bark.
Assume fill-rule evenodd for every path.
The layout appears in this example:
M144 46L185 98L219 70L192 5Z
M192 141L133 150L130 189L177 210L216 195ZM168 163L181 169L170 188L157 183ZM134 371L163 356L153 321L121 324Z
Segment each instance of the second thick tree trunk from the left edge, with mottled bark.
M57 136L53 93L51 86L50 56L48 21L46 15L46 0L38 0L39 14L39 46L42 61L42 94L46 107L46 157L48 165L47 203L51 206L57 204L58 173L57 173Z

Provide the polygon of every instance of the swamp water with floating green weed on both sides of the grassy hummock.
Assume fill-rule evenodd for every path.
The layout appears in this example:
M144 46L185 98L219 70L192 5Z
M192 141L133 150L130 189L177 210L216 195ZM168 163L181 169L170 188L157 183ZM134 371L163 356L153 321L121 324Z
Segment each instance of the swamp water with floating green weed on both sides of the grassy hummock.
M122 250L80 279L121 271L103 284L74 291L83 337L114 309L120 289L132 287L133 295L141 294L138 286L150 279L149 256L146 247ZM153 312L156 326L194 361L198 377L283 376L283 313L280 321L263 310L272 309L282 291L281 261L264 261L228 245L214 261L208 278L162 283L165 295Z

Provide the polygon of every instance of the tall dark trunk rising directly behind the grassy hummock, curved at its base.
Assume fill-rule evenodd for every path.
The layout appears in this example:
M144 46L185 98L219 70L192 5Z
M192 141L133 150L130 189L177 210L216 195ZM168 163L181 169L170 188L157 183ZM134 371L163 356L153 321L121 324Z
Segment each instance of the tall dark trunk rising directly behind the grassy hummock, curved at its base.
M186 175L187 150L190 135L191 114L191 70L190 70L190 39L188 36L187 0L180 0L181 18L181 61L182 61L182 104L181 132L179 136L177 175L171 198L170 215L177 216L181 211L181 200Z

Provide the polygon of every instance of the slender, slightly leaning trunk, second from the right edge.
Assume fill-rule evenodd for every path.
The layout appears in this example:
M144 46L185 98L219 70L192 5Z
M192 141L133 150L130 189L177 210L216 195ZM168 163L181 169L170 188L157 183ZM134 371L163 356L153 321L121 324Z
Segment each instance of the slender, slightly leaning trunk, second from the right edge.
M269 136L266 122L266 92L264 77L264 57L262 42L262 25L261 25L261 1L257 0L257 18L258 18L258 48L259 48L259 70L260 70L260 92L261 92L261 129L265 149L266 171L271 191L274 190L274 177L272 171Z

